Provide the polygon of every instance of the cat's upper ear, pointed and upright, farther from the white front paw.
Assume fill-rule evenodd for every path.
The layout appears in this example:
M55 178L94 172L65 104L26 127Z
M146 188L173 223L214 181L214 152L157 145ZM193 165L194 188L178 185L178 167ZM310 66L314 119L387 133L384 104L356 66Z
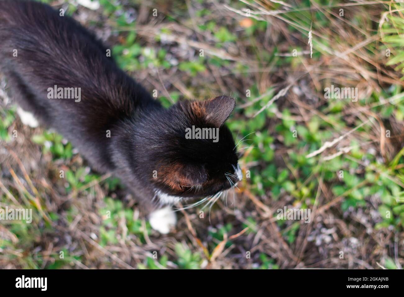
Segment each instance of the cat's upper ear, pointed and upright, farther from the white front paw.
M236 106L236 100L228 96L219 96L204 101L206 120L215 127L220 127L229 118Z

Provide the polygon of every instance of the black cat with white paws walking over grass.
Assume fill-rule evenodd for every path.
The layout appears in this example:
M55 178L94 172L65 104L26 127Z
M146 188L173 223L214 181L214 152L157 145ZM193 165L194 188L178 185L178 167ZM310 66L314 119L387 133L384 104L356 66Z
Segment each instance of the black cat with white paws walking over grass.
M161 233L176 223L173 204L216 198L242 178L224 125L233 98L163 108L93 34L50 6L0 0L0 70L21 120L55 128L94 169L119 177ZM216 129L217 141L186 137L192 127Z

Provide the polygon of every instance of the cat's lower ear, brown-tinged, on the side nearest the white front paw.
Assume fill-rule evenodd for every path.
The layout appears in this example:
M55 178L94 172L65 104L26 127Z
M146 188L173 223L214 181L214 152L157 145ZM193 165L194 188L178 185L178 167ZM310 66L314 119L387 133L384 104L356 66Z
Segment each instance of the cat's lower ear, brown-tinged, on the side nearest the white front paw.
M186 164L177 167L175 179L180 188L204 183L208 175L203 165Z

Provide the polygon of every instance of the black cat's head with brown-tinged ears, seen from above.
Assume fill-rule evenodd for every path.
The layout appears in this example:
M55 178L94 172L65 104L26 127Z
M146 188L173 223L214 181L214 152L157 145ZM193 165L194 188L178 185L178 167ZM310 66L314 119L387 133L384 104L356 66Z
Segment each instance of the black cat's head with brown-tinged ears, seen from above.
M234 98L220 96L180 101L166 110L164 129L158 129L159 148L151 152L156 169L151 182L156 190L180 197L206 197L242 179L236 144L224 124L234 106Z

